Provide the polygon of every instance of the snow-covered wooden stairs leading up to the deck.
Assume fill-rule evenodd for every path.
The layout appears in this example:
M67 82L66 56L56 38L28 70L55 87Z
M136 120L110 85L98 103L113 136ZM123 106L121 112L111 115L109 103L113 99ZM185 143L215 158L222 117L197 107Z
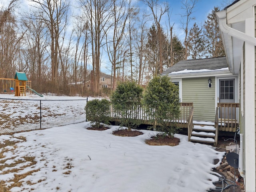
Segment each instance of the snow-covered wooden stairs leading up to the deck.
M214 122L193 121L193 129L189 136L189 141L217 146L218 130L216 132Z

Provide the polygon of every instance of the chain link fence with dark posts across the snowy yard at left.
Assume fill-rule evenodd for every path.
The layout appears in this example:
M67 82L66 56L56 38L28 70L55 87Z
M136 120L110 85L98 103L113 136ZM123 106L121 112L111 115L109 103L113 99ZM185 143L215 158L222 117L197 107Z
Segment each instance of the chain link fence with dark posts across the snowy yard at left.
M84 122L87 101L0 98L0 134Z

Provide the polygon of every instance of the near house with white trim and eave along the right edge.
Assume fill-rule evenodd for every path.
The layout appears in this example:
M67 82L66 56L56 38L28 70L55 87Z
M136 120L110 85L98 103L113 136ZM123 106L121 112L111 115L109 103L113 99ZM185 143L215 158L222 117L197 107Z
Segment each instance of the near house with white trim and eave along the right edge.
M239 172L245 191L256 191L256 1L236 0L216 13L230 72L238 76Z

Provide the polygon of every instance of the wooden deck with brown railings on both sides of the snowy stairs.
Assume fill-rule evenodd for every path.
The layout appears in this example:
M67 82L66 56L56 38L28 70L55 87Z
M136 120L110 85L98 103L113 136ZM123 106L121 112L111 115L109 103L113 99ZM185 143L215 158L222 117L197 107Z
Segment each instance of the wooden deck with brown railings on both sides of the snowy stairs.
M142 106L132 106L127 118L133 118L141 121L141 124L147 124L152 126L158 126L159 124L153 120L153 117L146 113L145 108ZM215 127L219 131L236 132L239 122L237 114L239 110L239 103L218 103L215 116ZM188 131L192 131L193 126L193 103L181 102L180 103L180 117L177 119L166 120L170 126L176 126L179 128L188 128ZM225 112L225 113L224 113ZM111 121L120 122L120 116L112 106L110 107L109 116ZM218 127L217 127L218 126ZM218 134L218 132L217 132Z

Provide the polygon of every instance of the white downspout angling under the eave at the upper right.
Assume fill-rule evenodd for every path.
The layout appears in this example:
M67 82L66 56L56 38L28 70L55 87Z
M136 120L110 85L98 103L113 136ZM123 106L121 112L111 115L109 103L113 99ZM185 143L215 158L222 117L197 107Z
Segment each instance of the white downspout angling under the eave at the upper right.
M249 36L241 31L233 29L227 25L226 10L224 10L222 12L217 12L216 16L219 20L218 23L219 23L220 30L223 33L228 34L229 36L238 38L242 41L245 41L249 44L256 46L256 38L255 37Z

